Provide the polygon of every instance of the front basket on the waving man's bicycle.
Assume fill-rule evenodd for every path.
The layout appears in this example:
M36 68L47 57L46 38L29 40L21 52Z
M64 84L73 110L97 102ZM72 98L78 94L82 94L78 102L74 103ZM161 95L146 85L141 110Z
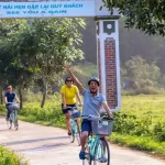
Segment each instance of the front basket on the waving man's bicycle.
M96 135L110 135L112 132L113 121L96 120L91 122L92 134Z

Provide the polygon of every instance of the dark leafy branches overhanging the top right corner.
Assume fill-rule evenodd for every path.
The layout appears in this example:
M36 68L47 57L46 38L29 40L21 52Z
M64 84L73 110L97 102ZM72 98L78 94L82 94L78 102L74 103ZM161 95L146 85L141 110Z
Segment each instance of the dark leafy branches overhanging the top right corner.
M125 26L165 35L165 0L102 0L110 11L124 15Z

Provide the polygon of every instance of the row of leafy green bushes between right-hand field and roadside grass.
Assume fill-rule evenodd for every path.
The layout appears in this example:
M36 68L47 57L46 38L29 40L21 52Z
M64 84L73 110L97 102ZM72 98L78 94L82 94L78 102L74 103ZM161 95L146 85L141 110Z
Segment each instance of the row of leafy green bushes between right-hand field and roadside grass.
M117 112L113 132L127 135L150 136L165 142L165 122L153 122L148 117L136 117L131 113Z

